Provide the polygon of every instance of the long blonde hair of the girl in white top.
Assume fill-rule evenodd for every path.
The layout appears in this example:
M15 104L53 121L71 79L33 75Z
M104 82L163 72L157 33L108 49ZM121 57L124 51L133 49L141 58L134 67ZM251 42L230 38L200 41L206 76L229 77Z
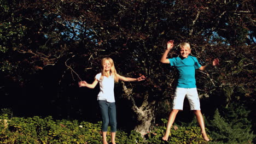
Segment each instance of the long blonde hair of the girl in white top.
M105 71L104 68L104 62L105 61L109 61L111 64L111 68L110 68L110 75L108 75ZM117 70L115 70L115 65L114 65L114 61L113 59L111 59L110 57L105 57L101 59L101 78L100 80L103 79L103 76L113 76L114 77L114 81L118 82L118 76L117 76Z

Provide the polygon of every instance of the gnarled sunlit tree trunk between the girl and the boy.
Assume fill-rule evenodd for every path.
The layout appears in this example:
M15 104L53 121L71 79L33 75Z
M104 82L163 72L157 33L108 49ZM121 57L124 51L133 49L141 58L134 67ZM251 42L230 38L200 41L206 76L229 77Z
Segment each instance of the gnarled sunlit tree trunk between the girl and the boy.
M125 93L125 97L132 102L132 110L136 113L137 115L137 121L139 122L138 125L135 127L135 131L140 133L142 137L149 131L150 126L152 125L152 121L154 119L154 113L153 113L153 103L148 103L148 97L149 94L146 93L144 96L144 100L141 106L137 106L135 103L135 100L132 97L132 88L127 88L125 86L125 83L123 83L123 90Z

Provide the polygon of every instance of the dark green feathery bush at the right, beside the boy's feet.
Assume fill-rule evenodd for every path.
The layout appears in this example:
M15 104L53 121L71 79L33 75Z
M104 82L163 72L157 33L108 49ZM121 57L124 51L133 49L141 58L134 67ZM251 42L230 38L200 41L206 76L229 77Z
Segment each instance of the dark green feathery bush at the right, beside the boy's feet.
M251 131L252 123L247 119L250 111L244 106L231 104L224 109L225 115L222 117L216 110L210 125L213 143L252 143L255 139Z

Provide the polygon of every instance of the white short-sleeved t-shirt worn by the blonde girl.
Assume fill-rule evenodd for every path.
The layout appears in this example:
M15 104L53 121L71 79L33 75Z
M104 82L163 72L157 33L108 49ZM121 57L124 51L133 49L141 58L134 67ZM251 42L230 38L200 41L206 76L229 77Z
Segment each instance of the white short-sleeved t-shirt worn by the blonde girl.
M98 73L95 76L95 79L97 79L100 82L100 93L98 93L98 100L106 100L109 103L115 102L114 97L114 76L103 76L103 79L101 79L101 73Z

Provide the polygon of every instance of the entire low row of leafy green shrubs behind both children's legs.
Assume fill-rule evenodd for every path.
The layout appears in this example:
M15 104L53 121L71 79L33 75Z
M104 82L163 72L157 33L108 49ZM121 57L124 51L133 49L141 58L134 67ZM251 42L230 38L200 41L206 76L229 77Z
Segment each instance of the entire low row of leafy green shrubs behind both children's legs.
M89 123L67 120L54 120L51 116L40 118L0 116L0 143L6 144L100 144L101 122ZM161 140L165 127L155 126L144 138L136 131L129 134L117 131L116 141L125 144L149 143L206 143L202 140L199 127L174 127L167 142ZM110 141L110 133L107 134Z

